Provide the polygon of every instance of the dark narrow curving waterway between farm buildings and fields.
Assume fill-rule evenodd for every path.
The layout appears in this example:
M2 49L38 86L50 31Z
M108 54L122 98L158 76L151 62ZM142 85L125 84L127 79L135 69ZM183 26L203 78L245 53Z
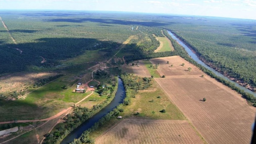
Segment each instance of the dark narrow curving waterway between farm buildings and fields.
M123 103L123 100L125 98L125 89L124 84L121 81L120 78L118 78L118 88L115 94L115 98L108 104L105 108L103 108L101 111L96 113L94 116L86 120L83 124L78 126L76 129L74 129L70 134L67 135L67 137L62 140L61 144L67 144L72 142L75 138L80 137L80 135L89 129L91 126L94 125L97 121L99 121L100 118L105 116L107 113L109 113L113 108L117 107L119 104Z

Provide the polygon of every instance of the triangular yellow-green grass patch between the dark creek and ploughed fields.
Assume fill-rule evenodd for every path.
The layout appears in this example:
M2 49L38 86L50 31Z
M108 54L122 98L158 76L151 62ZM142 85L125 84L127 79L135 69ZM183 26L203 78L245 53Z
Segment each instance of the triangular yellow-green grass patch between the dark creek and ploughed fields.
M160 98L157 98L160 96ZM150 102L154 99L154 102ZM135 98L131 99L131 104L122 106L124 112L120 113L124 118L146 118L146 119L162 119L162 120L186 120L185 116L170 101L160 86L152 80L152 86L147 90L139 91ZM159 112L165 109L166 113ZM139 112L140 114L135 115ZM91 133L92 138L97 138L103 132L121 120L112 118L100 129Z

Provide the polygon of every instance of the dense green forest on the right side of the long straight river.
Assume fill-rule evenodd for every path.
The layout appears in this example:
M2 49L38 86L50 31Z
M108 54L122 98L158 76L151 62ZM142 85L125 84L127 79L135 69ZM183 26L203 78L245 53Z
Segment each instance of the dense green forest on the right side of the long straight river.
M198 18L167 26L209 66L256 88L255 20ZM255 89L256 90L256 89Z

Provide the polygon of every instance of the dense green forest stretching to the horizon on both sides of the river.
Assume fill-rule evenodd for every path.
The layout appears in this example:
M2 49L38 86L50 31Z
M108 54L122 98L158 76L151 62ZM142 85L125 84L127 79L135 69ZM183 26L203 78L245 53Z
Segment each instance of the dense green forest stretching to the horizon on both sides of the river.
M1 18L15 42L1 25L0 74L57 67L86 50L113 52L131 35L138 39L122 50L127 61L168 56L153 53L159 42L152 34L162 37L161 29L169 29L208 65L256 87L255 20L86 11L7 12Z

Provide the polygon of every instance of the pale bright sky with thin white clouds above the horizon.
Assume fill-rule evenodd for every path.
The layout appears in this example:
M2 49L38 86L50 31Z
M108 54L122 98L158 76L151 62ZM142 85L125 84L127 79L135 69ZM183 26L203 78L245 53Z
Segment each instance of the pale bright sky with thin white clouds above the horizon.
M256 20L256 0L0 0L0 10L100 10Z

